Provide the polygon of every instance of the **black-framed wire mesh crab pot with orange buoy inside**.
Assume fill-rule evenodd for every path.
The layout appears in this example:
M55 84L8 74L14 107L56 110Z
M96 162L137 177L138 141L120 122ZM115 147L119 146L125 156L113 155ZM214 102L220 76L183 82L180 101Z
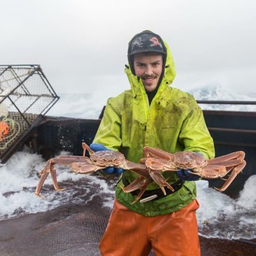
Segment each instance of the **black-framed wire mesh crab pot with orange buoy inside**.
M59 99L40 65L0 65L0 159Z

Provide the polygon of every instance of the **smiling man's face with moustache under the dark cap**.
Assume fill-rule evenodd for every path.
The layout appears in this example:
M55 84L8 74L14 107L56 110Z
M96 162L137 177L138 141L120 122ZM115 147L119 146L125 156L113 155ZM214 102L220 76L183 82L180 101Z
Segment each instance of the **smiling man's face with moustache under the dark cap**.
M163 56L156 52L138 53L134 55L134 70L147 92L153 92L163 70Z

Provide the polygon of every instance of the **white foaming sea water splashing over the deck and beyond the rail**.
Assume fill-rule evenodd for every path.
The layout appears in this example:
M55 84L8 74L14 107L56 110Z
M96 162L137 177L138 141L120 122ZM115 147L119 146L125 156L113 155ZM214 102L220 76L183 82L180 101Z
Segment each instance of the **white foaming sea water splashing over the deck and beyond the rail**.
M253 100L252 95L230 95L220 86L200 88L191 92L196 99L209 100ZM75 118L98 118L104 100L95 100L89 94L60 95L61 100L47 115L69 116ZM243 99L242 99L243 98ZM203 106L204 107L204 106ZM223 108L223 106L207 106ZM224 108L227 108L224 107ZM255 106L232 106L232 110L256 111ZM61 155L70 154L60 152ZM0 166L0 220L14 218L22 214L44 212L65 204L86 204L93 200L92 191L104 198L100 207L112 207L115 196L115 183L107 183L95 175L76 175L67 166L57 165L58 182L65 184L67 190L55 192L51 177L45 180L43 195L47 200L35 196L38 183L38 171L46 161L42 156L24 148L16 152L7 163ZM252 175L244 184L239 197L229 196L208 187L206 180L196 182L198 202L197 211L199 233L206 237L225 239L252 239L256 237L256 175ZM77 193L77 191L80 191ZM83 195L90 195L84 201Z

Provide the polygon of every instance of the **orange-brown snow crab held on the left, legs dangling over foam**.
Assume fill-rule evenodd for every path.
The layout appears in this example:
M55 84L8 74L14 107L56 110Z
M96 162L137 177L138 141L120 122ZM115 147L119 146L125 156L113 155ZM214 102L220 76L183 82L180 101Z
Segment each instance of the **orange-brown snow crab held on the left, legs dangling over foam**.
M44 168L40 171L40 180L36 186L35 194L41 198L40 195L42 186L45 179L51 173L52 183L56 191L61 191L66 188L60 188L56 179L56 170L54 164L66 164L71 166L71 170L75 173L88 174L96 172L97 170L104 169L106 167L114 166L116 168L122 168L125 170L131 170L138 173L141 177L148 178L149 174L145 171L145 164L132 163L127 161L124 155L120 152L113 150L103 150L94 152L86 143L82 143L83 156L57 156L47 161ZM90 157L86 157L86 150L90 152Z

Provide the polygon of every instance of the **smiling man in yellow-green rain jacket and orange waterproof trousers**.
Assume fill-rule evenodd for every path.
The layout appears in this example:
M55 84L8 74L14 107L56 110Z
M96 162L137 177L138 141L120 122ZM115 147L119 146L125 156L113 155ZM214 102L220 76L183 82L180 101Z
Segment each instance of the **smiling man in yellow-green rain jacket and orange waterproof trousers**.
M143 147L161 148L170 153L189 150L214 157L214 144L205 125L202 109L192 95L170 87L175 77L172 54L166 42L152 31L143 31L129 42L125 73L131 84L108 100L99 130L90 148L118 150L125 158L140 163ZM164 172L175 188L167 195L155 182L146 195L154 200L132 204L135 193L124 193L138 175L129 170L106 168L106 173L122 173L116 184L116 198L108 227L100 241L104 256L200 255L196 222L198 175L191 170ZM153 196L154 197L154 196Z

